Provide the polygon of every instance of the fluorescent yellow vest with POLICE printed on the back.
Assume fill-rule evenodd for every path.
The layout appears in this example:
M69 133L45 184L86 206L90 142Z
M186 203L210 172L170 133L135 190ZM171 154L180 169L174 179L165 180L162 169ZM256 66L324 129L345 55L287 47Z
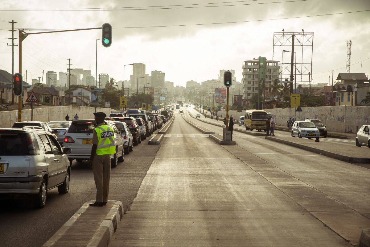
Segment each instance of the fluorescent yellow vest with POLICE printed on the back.
M114 147L114 131L113 128L104 124L95 128L98 136L98 147L96 149L97 155L115 154Z

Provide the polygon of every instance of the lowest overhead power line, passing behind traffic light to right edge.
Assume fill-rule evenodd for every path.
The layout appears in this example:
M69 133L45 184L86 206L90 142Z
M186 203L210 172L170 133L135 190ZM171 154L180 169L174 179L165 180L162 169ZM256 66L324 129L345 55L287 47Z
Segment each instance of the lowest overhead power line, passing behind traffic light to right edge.
M366 12L370 10L359 10L359 11L350 11L342 13L332 13L332 14L316 14L312 16L296 16L296 17L283 17L283 18L274 18L274 19L261 19L261 20L249 20L249 21L229 21L229 22L215 22L215 23L198 23L198 24L182 24L182 25L164 25L164 26L141 26L141 27L112 27L113 29L131 29L131 28L151 28L151 27L184 27L184 26L202 26L202 25L216 25L216 24L233 24L233 23L246 23L246 22L256 22L256 21L273 21L273 20L287 20L287 19L299 19L307 17L318 17L318 16L332 16L336 14L350 14L350 13L359 13ZM1 29L2 27L0 27ZM25 31L42 31L42 30L68 30L66 29L38 29L38 28L24 28ZM72 28L73 29L73 28Z

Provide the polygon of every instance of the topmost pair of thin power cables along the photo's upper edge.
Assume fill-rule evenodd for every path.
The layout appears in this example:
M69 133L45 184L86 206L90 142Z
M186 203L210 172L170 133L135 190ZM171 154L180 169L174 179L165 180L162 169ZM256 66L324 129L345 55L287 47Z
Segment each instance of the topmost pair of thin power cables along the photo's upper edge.
M195 8L210 8L210 7L228 7L228 6L243 6L243 5L257 5L257 4L270 4L270 3L293 3L311 0L292 0L292 1L279 1L279 2L268 2L268 3L243 3L243 4L228 4L228 5L213 5L213 6L192 6L192 7L154 7L146 9L0 9L0 11L125 11L125 10L162 10L162 9L195 9ZM194 4L191 4L194 5ZM143 7L139 7L143 8Z

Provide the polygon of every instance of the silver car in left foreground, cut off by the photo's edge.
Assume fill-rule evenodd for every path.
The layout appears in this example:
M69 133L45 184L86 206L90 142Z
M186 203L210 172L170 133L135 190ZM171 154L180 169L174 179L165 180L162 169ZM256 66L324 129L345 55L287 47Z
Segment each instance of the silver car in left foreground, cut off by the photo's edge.
M40 127L0 128L0 194L31 195L43 208L47 191L68 193L71 168L58 140Z

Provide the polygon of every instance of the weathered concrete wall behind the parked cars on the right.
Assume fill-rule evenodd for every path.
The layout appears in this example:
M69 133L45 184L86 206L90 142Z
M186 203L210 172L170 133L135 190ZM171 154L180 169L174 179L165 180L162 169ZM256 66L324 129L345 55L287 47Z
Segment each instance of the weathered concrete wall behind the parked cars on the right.
M294 108L264 110L276 116L277 125L286 126L286 121L289 120L290 117L294 117ZM296 120L304 121L306 118L323 121L328 131L356 133L361 126L370 123L370 107L302 107L302 112L296 112Z

